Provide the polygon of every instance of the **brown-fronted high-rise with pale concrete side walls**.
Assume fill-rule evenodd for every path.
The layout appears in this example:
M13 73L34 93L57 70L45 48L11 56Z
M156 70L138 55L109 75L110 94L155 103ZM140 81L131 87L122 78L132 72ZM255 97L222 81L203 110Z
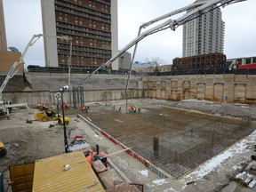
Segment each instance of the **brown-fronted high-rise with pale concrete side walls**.
M117 0L41 0L46 67L98 68L116 54ZM118 69L118 60L110 66Z

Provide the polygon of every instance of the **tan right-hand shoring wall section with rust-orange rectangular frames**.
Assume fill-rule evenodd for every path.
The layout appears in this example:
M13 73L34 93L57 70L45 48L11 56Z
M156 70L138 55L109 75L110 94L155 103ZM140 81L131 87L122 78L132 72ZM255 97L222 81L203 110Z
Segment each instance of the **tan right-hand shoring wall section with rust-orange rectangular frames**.
M143 80L142 95L159 100L255 103L255 82L255 75L148 76Z

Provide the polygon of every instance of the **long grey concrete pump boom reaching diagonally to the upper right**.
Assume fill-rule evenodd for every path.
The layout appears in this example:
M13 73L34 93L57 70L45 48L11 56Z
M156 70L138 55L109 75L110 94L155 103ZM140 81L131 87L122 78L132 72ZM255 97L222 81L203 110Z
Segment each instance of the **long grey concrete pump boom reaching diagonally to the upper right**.
M130 42L129 44L127 44L126 46L124 46L124 48L122 50L120 50L119 52L116 53L116 55L114 55L110 60L108 60L106 63L103 63L99 68L96 68L89 76L86 76L84 78L84 80L78 85L78 87L82 86L82 84L84 84L88 78L90 76L92 76L93 74L95 74L97 71L100 70L100 68L106 68L108 67L114 60L116 60L118 57L120 57L124 52L126 52L127 50L129 50L133 45L138 44L138 42L140 42L143 38L145 38L146 36L152 35L154 33L157 33L159 31L162 31L166 28L171 28L172 30L175 30L175 28L178 28L180 25L183 25L184 23L190 21L190 20L194 20L197 17L207 13L207 12L211 12L214 9L220 7L220 6L225 6L228 4L232 4L232 3L236 3L236 2L241 2L244 0L209 0L209 1L204 1L202 3L201 6L195 8L194 10L192 10L191 12L188 12L186 14L184 14L183 16L181 16L179 19L177 20L166 20L164 21L162 24L157 25L154 28L150 28L147 31L143 32L143 33L139 33L139 35L134 38L132 40L132 42ZM189 5L188 5L189 6ZM183 8L183 9L188 9L188 7ZM180 12L182 10L180 9ZM179 13L179 12L176 12ZM169 13L170 14L170 13ZM173 12L172 12L173 14ZM165 16L156 18L156 20L151 20L147 23L147 25L145 25L145 27L147 27L148 25L158 21L158 20L163 20L167 17L168 14L166 14ZM170 16L169 16L170 17Z

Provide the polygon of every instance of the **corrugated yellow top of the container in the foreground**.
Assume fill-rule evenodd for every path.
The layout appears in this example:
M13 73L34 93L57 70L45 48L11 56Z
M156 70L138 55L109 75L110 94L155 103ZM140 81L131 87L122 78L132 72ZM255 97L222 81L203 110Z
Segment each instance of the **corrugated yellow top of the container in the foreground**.
M83 152L36 161L33 191L105 191Z

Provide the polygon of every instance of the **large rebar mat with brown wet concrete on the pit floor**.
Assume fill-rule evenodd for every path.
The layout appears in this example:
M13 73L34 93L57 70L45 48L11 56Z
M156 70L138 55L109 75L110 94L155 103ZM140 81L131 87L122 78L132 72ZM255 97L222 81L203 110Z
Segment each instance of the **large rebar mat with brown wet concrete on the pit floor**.
M132 105L140 106L140 113L129 113L126 104L120 102L93 106L84 116L175 178L255 130L255 126L243 118L213 116L150 102L127 103Z

